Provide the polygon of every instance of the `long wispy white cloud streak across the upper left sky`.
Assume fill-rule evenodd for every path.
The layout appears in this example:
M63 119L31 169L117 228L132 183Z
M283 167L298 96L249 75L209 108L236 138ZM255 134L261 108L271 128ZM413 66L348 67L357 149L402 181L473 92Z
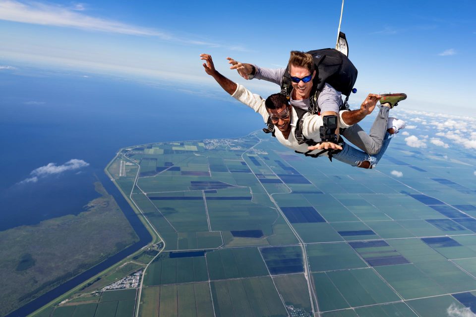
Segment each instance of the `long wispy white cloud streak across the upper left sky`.
M85 14L85 9L83 3L76 3L73 4L72 7L65 7L35 1L24 2L18 0L5 0L0 1L0 20L52 25L86 31L119 33L135 36L152 36L164 41L176 43L208 46L213 48L225 47L232 51L246 51L246 49L239 46L226 47L218 43L208 43L195 39L180 38L166 31L144 28L107 18L94 17Z

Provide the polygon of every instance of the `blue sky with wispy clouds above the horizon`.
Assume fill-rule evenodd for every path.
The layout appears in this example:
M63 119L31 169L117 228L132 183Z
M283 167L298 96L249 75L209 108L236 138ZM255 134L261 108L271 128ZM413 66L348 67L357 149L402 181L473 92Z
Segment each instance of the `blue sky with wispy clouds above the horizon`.
M225 58L266 67L289 51L334 47L340 0L306 1L0 0L0 71L34 66L166 82L173 89L216 87L198 55L263 95L276 91L227 70ZM368 92L406 92L407 105L474 115L476 11L473 0L347 0L341 30Z

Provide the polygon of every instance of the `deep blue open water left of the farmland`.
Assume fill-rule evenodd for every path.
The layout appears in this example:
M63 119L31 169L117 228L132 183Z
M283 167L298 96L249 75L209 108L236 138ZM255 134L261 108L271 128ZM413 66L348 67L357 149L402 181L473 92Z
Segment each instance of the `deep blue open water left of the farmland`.
M0 72L0 90L0 231L83 211L99 196L98 174L122 147L238 137L261 124L225 92L186 83L17 67ZM21 183L38 167L70 159L89 166Z

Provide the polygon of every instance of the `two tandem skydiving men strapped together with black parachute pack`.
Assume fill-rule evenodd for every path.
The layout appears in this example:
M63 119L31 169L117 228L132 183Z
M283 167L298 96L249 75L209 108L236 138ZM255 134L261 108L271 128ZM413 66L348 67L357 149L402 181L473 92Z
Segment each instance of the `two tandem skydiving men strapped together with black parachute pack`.
M266 100L220 74L209 54L201 54L200 58L206 61L203 64L206 73L232 97L261 114L267 123L267 128L263 130L271 132L284 146L306 156L327 156L352 166L373 168L385 153L393 135L405 127L405 122L389 118L388 115L389 110L407 96L369 94L359 109L347 110L347 98L343 102L341 92L331 86L331 83L349 96L357 78L357 69L348 61L347 56L329 51L335 50L309 53L293 51L286 69L261 68L228 58L232 64L230 68L237 69L243 78L264 79L282 86L280 93L273 94ZM332 59L332 54L336 53L341 58L341 68L343 62L348 62L354 67L355 74L352 71L338 73L341 68L335 68L338 63ZM322 62L324 57L332 62L331 66ZM316 69L319 71L319 78L316 77ZM381 104L379 113L367 134L357 122L370 114L378 101ZM345 143L340 138L339 131L362 151Z

